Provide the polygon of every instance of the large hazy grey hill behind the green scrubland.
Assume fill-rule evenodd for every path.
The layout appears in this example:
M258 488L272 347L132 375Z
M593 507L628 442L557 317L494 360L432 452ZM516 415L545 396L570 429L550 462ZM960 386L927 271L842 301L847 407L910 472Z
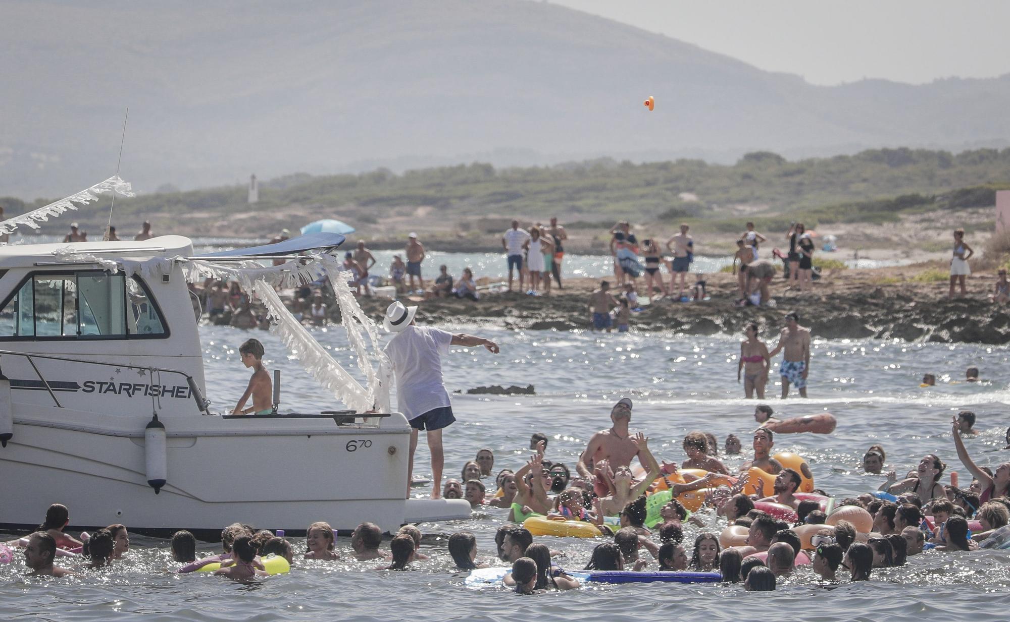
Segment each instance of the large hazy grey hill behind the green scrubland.
M525 0L7 0L0 21L5 195L107 177L126 106L122 176L145 191L474 154L735 159L1010 137L1010 76L818 87Z

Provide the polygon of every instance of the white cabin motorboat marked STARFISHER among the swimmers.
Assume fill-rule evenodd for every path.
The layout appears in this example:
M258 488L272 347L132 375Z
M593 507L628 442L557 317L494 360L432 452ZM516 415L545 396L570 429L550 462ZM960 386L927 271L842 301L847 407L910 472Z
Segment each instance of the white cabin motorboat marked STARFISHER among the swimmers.
M297 535L470 515L406 499L401 414L211 414L187 257L177 235L0 247L0 530L34 528L56 502L78 529L204 539L236 521Z

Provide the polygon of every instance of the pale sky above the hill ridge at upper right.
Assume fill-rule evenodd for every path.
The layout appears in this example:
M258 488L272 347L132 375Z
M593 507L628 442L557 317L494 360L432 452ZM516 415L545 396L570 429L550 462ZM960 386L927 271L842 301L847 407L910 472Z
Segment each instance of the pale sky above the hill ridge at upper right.
M549 0L837 85L1010 74L1007 0Z

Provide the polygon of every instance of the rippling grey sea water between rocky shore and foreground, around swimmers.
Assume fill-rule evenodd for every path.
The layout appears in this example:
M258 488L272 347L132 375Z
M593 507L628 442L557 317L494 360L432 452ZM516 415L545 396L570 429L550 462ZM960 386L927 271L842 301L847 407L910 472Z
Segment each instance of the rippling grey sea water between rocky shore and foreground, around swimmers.
M634 400L632 431L643 431L659 459L681 461L684 435L711 431L720 448L735 433L749 446L755 402L742 399L736 382L739 336L684 336L660 333L601 334L582 331L507 331L466 324L452 331L474 332L496 340L500 354L484 348L452 347L444 357L445 383L453 396L457 423L445 431L445 476L459 478L464 462L477 450L495 453L494 472L518 470L531 451L529 436L549 437L547 457L574 471L579 453L593 432L610 426L609 410L622 396ZM316 338L341 364L354 370L354 356L339 328L313 329ZM220 326L201 329L207 386L212 410L234 405L247 382L238 345L250 336L264 341L267 366L282 371L283 411L331 410L340 404L321 391L269 332L246 332ZM772 338L774 344L774 338ZM1010 459L1005 431L1010 425L1006 403L1010 392L1010 351L975 344L907 343L879 340L813 342L810 399L794 395L778 399L778 377L772 374L768 403L776 415L791 417L831 412L832 434L777 435L775 451L804 455L815 484L835 497L876 490L882 476L862 473L863 453L873 443L887 450L887 469L903 475L925 453L937 453L947 472L957 471L962 485L971 477L956 459L950 416L961 409L978 415L982 433L966 439L980 464ZM967 384L968 367L978 367L984 382ZM937 386L920 389L923 374L937 376ZM487 385L532 384L533 396L473 396L466 390ZM743 456L720 457L730 470ZM430 472L422 440L418 475ZM298 474L293 477L310 477ZM318 465L325 486L327 465ZM944 482L946 478L944 477ZM492 480L486 480L494 490ZM415 495L427 493L414 489ZM74 508L70 508L73 517ZM723 526L709 513L701 515L710 529ZM235 517L236 520L242 517ZM20 559L0 565L0 619L50 620L389 620L427 622L444 619L598 620L691 619L738 622L756 620L1005 620L1010 587L1010 552L931 552L909 558L900 568L875 569L873 581L817 586L804 572L780 582L775 593L745 593L726 585L594 585L569 593L519 597L500 588L464 586L454 573L444 537L459 530L478 538L479 559L495 562L494 532L506 511L484 509L467 520L426 523L423 551L430 559L413 572L374 569L378 562L346 561L349 545L340 538L344 560L296 559L289 575L233 584L205 575L172 573L168 542L133 536L128 558L111 569L82 573L64 580L24 577ZM39 517L39 520L41 517ZM310 521L335 517L306 517ZM271 525L260 525L270 528ZM701 530L688 527L689 550ZM582 568L593 540L538 538L563 551L563 567ZM296 556L304 539L293 540ZM388 545L388 544L387 544ZM202 544L214 551L218 545ZM645 553L646 557L648 556ZM839 577L846 577L839 573Z

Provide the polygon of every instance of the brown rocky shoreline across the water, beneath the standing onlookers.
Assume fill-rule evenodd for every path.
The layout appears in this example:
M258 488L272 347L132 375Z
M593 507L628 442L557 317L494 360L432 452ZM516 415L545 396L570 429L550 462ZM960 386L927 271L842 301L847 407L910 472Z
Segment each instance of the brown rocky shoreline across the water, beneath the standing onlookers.
M921 270L921 269L920 269ZM730 275L711 276L711 300L680 303L658 300L631 317L632 330L711 335L741 334L749 322L758 322L765 338L783 325L783 315L797 311L801 324L813 336L839 338L900 338L907 341L1010 342L1010 313L990 303L984 295L987 277L970 283L973 298L946 300L946 285L940 282L909 282L901 273L915 268L886 271L838 271L815 285L814 290L784 292L777 279L773 286L775 307L735 306L735 281ZM897 275L892 273L898 273ZM892 282L898 280L898 282ZM529 330L577 330L591 328L587 306L589 293L598 284L579 279L550 296L518 293L490 294L478 302L435 299L417 304L417 318L426 324L465 322ZM363 299L363 308L382 317L388 300Z

